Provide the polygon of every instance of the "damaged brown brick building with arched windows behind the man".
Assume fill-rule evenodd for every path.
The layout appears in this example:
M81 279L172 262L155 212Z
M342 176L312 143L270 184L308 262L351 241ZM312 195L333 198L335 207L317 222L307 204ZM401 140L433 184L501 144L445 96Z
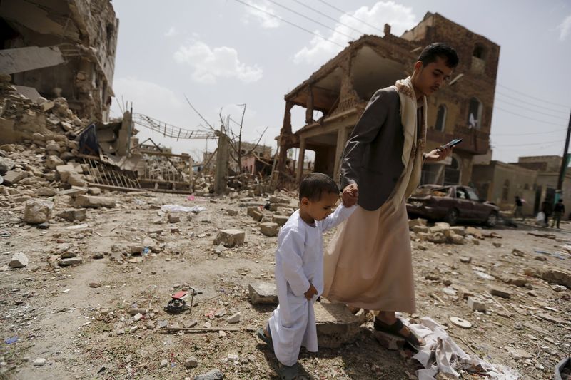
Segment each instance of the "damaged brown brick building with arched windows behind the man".
M315 152L314 170L339 177L341 155L369 98L379 88L410 76L420 51L445 42L458 52L460 63L448 85L428 98L427 151L462 138L452 157L423 167L423 183L464 184L471 178L474 157L490 148L490 126L500 46L455 24L440 14L427 13L420 23L398 37L365 35L321 66L310 78L285 95L283 127L278 137L279 173L287 177L287 151ZM294 132L291 110L305 108L305 125ZM323 115L314 120L314 111ZM303 166L295 168L300 179Z

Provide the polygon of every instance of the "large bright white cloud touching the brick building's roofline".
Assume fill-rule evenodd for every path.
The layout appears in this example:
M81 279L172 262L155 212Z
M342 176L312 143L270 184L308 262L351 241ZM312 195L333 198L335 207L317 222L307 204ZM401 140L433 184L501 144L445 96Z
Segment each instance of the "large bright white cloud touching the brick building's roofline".
M355 19L350 15L354 16ZM308 46L304 46L300 51L295 53L293 61L295 63L323 63L341 51L343 48L340 46L347 46L348 41L355 40L363 34L383 35L382 30L385 24L390 24L391 33L399 36L405 30L417 24L415 19L416 16L413 14L412 8L395 4L393 1L378 1L370 7L370 9L367 6L362 6L353 13L340 16L339 24L335 26L337 33L332 31L329 36L324 36L318 31L315 31L316 34L334 43L315 36L311 39ZM376 26L376 28L368 26L359 20ZM356 31L353 29L356 29ZM360 31L360 33L358 31ZM348 36L351 38L348 38Z

